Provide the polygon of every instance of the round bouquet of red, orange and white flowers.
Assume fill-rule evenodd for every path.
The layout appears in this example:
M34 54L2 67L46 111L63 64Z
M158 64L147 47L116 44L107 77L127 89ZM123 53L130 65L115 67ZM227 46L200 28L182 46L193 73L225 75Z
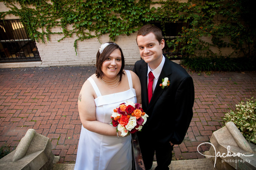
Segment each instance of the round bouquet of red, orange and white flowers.
M129 133L140 131L146 123L147 117L148 115L143 112L139 103L128 101L114 109L111 115L111 124L117 127L116 131L120 131L121 136L126 136Z

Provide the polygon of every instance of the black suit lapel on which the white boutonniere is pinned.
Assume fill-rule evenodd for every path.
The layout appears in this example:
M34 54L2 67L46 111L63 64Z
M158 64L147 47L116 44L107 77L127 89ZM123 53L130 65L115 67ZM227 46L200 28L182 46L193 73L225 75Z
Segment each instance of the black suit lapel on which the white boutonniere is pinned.
M150 100L148 109L150 109L150 107L154 106L154 103L159 99L161 94L164 92L164 89L162 89L161 86L160 86L160 84L162 83L162 79L164 77L168 77L170 79L171 73L172 73L172 71L171 71L171 61L169 61L168 58L166 58L166 60L164 62L163 69L162 69L162 71L160 73L160 76L158 78L156 88L155 88L154 93L152 95L152 98Z

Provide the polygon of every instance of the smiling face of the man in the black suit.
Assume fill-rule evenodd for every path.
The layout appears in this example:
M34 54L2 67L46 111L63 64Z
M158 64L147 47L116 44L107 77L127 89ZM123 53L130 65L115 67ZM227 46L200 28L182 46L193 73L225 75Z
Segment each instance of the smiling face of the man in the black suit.
M156 69L162 61L162 49L164 48L164 40L156 40L153 33L149 33L145 36L137 36L137 44L140 49L141 58L149 64L149 67Z

